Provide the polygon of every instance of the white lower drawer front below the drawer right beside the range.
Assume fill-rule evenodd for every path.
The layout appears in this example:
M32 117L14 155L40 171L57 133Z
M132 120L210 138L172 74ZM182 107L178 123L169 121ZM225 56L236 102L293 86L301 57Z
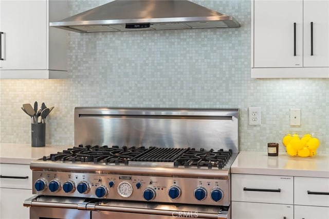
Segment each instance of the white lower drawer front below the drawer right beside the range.
M232 219L293 219L293 205L232 202Z

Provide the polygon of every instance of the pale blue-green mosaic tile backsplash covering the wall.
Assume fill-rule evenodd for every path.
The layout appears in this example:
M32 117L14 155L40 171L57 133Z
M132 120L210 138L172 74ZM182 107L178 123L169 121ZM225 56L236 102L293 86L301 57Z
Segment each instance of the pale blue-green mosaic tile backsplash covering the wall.
M281 131L324 133L329 153L329 80L250 78L250 1L195 0L235 17L241 28L69 32L68 79L0 80L0 142L31 143L23 103L54 106L46 143L74 144L76 106L239 108L240 150L266 151ZM69 1L70 14L107 1ZM260 106L262 124L248 125ZM301 126L289 125L301 109ZM280 148L283 151L283 147Z

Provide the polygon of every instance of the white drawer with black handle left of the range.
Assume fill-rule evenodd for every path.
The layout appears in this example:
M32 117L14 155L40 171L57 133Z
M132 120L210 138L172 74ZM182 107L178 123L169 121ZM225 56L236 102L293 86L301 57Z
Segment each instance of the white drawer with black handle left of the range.
M29 165L1 163L0 175L1 188L32 189L32 171Z

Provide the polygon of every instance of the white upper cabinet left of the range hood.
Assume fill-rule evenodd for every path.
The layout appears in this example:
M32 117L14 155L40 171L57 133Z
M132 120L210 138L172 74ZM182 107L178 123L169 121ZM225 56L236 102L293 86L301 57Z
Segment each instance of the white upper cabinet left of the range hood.
M67 11L66 1L0 0L1 79L67 77L67 31L49 27Z

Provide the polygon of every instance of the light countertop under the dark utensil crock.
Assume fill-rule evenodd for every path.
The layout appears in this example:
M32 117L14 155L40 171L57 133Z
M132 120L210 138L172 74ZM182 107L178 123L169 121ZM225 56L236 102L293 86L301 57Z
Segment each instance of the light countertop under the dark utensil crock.
M33 160L72 147L72 145L46 145L45 147L34 148L31 147L31 144L0 143L0 163L17 163L29 165Z

